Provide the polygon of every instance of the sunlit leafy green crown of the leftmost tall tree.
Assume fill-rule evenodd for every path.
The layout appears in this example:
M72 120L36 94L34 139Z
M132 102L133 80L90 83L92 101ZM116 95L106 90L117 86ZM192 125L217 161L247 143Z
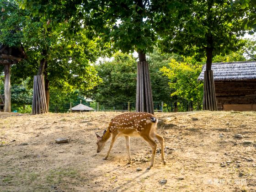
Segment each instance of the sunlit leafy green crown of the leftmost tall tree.
M106 43L102 45L97 37L88 39L83 30L65 36L68 30L65 23L52 29L45 17L19 9L15 0L0 0L0 3L1 9L8 10L9 14L8 20L2 17L0 41L22 42L27 53L26 60L12 66L14 82L21 83L36 74L45 75L48 102L49 87L59 90L68 87L72 92L89 90L97 84L99 78L90 62L107 52ZM17 30L15 36L8 32L13 29Z

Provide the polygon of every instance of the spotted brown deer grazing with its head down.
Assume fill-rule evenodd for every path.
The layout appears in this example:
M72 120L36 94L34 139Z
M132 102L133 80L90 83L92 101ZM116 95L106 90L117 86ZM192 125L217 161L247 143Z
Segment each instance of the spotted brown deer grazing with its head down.
M151 164L147 169L150 169L154 165L155 151L157 146L155 140L157 140L161 145L161 157L165 165L166 161L164 152L164 139L156 133L157 122L158 119L154 115L147 112L128 112L118 115L117 117L111 120L107 128L107 131L104 131L102 137L96 133L98 139L97 153L101 152L107 140L110 138L110 136L112 136L111 144L108 149L107 155L103 158L104 160L107 160L109 152L112 149L117 137L124 136L126 140L126 148L128 150L128 164L130 164L130 136L140 136L144 140L146 140L152 147Z

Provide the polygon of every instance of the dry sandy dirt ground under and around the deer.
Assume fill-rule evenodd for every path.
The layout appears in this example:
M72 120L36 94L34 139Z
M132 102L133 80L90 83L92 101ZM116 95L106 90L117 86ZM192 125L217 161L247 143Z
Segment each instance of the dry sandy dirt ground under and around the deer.
M121 113L0 112L0 191L256 191L256 112L156 113L167 165L158 150L151 170L142 138L131 138L131 165L123 137L107 160L110 140L96 153L95 132Z

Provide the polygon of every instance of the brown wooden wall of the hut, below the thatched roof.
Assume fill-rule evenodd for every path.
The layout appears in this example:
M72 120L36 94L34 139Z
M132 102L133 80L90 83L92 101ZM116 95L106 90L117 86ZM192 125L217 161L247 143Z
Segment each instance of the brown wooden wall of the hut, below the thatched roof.
M256 80L214 81L218 110L256 110Z

